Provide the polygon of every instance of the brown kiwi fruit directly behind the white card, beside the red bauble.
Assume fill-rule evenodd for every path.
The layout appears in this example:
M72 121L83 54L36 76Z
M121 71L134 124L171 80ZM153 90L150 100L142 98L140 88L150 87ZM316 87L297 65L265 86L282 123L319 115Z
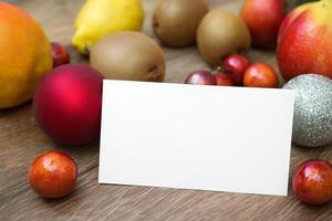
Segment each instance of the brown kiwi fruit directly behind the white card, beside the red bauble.
M165 57L159 45L139 32L116 32L92 49L90 63L108 80L162 82Z

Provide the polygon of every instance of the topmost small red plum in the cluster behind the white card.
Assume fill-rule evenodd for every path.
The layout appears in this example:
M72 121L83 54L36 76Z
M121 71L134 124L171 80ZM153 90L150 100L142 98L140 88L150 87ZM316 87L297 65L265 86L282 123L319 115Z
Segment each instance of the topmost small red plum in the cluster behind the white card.
M232 74L236 85L242 85L243 75L249 64L248 59L243 55L234 54L226 57L220 67Z

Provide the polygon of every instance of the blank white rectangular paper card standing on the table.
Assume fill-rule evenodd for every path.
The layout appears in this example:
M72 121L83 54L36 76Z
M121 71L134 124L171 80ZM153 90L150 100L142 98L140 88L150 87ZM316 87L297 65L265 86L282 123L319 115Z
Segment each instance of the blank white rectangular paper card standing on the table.
M286 196L289 90L104 81L100 183Z

